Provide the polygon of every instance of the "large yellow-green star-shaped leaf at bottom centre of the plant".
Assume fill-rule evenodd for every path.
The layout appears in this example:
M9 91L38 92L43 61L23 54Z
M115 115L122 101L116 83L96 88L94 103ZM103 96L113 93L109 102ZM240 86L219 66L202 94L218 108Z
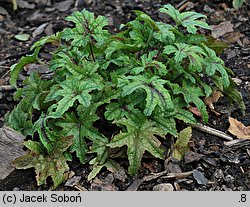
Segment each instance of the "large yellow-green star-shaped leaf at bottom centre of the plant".
M118 123L125 125L127 132L120 132L118 135L115 135L108 146L115 148L127 145L128 171L131 175L137 174L142 156L146 150L153 156L163 159L160 141L155 137L155 135L164 136L160 128L154 127L152 122L149 121L141 123L141 126L129 119L123 119Z

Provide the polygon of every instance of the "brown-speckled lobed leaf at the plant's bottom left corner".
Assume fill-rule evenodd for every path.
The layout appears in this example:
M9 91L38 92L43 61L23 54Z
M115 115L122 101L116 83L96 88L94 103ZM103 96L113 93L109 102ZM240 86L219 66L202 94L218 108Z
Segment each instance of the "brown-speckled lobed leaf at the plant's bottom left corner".
M43 154L40 143L27 141L24 145L30 149L29 154L17 158L14 166L17 169L27 169L34 167L36 172L37 184L46 184L48 177L53 180L52 189L55 189L65 180L65 172L69 170L68 164L63 153L72 144L72 137L63 137L55 143L54 151L51 155Z

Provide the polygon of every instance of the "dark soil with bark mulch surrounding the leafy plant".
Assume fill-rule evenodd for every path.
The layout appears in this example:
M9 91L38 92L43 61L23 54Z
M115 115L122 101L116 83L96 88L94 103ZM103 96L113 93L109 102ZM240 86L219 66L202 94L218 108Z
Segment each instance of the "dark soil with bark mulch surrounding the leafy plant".
M215 104L215 110L221 115L216 116L210 112L209 126L226 132L229 127L228 117L233 117L245 126L250 125L250 25L249 8L247 1L242 8L235 10L231 1L164 1L164 0L85 0L74 1L66 11L56 9L59 0L41 0L33 3L34 8L18 8L13 11L11 3L0 1L0 86L8 85L10 66L16 63L21 56L29 53L29 48L45 33L32 37L32 32L42 25L49 23L52 30L57 32L66 26L65 17L74 10L86 8L94 11L96 15L105 15L110 21L110 30L115 31L120 23L125 23L134 18L132 10L142 10L151 15L155 20L164 20L165 17L158 14L157 10L162 5L171 3L183 11L194 10L208 16L208 23L216 25L221 22L231 21L234 25L233 37L223 35L221 40L228 42L229 47L221 55L227 67L233 70L238 80L237 88L242 93L246 114L243 116L237 106L231 106L225 98L219 99ZM28 1L32 4L34 1ZM51 4L50 4L51 2ZM189 4L187 4L189 2ZM198 3L197 3L198 2ZM185 6L186 5L186 6ZM62 10L62 9L61 9ZM166 20L168 21L168 20ZM18 33L30 34L28 41L21 42L14 38ZM235 33L238 32L238 33ZM238 38L234 38L237 34ZM14 90L0 90L0 127L4 124L4 115L13 109ZM151 191L161 183L170 183L175 190L188 191L229 191L250 190L250 145L228 148L223 139L216 136L193 130L191 149L193 156L186 156L181 162L167 159L165 162L145 156L137 177L127 174L112 174L103 170L102 173L91 182L87 182L86 176L90 169L87 165L81 165L77 160L69 163L75 177L81 176L78 185L67 187L62 184L56 190L141 190ZM202 157L199 157L201 156ZM197 158L197 159L195 159ZM127 166L126 159L119 162ZM194 174L185 178L167 178L158 176L142 182L142 178L150 173L159 173L164 170L180 173L197 169L200 178ZM204 181L204 177L207 182ZM48 181L48 183L50 183ZM46 190L49 186L37 186L33 169L14 170L6 179L0 180L0 190Z

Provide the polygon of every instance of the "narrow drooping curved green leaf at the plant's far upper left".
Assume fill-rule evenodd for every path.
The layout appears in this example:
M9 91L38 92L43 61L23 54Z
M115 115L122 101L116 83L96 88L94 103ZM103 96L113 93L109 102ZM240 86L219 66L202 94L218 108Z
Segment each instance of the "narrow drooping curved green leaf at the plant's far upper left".
M22 71L23 67L29 63L37 62L38 53L41 48L37 47L32 55L22 57L18 63L14 64L10 68L10 84L16 87L16 81L18 79L19 73Z

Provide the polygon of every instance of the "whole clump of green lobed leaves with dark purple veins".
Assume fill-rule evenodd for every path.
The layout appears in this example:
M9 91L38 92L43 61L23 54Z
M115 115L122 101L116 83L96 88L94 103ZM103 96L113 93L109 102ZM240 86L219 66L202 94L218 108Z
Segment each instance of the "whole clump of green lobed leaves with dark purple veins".
M30 150L15 160L17 168L35 167L38 184L51 176L55 188L72 153L92 165L92 179L103 167L119 170L110 149L126 146L128 172L135 175L145 151L164 159L162 142L178 137L177 124L197 122L190 106L208 121L204 98L214 90L243 108L232 72L212 49L215 45L198 33L210 29L206 16L180 13L169 4L159 11L175 23L135 11L136 18L116 34L106 29L106 17L76 11L66 18L74 27L41 38L33 54L11 67L14 86L30 63L45 64L53 74L45 79L31 73L14 95L19 104L6 120L27 137L24 145ZM49 61L39 55L46 44L55 47ZM115 128L111 136L102 132L105 124Z

